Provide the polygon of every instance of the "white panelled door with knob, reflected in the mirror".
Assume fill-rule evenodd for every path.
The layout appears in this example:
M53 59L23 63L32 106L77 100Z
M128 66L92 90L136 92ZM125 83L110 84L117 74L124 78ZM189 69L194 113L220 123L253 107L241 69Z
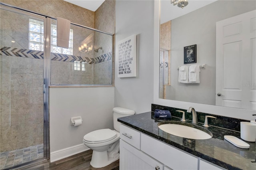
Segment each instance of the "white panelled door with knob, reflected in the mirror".
M256 110L256 10L216 22L216 105Z

